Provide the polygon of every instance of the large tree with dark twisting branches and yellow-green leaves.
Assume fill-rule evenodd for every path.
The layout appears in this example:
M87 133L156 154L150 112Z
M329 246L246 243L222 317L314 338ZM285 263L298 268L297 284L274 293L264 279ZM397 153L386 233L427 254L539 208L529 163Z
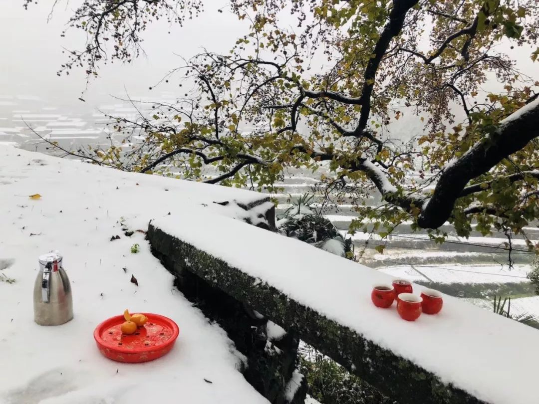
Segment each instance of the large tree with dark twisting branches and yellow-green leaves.
M130 61L153 20L181 24L202 6L84 0L65 34L85 31L87 43L59 74L80 67L89 80L102 63ZM248 19L250 31L229 52L171 71L163 80L192 87L173 105L115 119L126 141L143 142L73 153L121 170L181 168L182 178L270 189L287 168L324 165L330 194L355 195L351 228L374 223L382 236L404 221L438 240L446 221L461 236L473 222L483 234L519 234L539 217L539 82L501 50L529 48L537 59L536 0L232 0L221 11ZM482 89L493 80L499 90ZM405 111L423 130L402 143L391 128ZM364 204L372 192L378 206Z

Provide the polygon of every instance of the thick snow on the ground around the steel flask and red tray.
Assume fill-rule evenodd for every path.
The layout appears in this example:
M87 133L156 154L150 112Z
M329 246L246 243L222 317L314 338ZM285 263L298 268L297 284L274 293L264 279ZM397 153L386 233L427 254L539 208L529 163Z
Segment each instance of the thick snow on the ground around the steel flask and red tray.
M34 193L42 198L27 197ZM0 403L267 403L237 371L243 356L174 288L144 234L122 231L198 206L197 227L208 236L212 215L236 214L212 202L232 198L248 204L260 196L0 146ZM134 243L138 254L130 253ZM52 249L64 255L74 319L44 327L33 322L32 290L37 258ZM103 357L93 330L126 308L174 319L174 349L146 364Z

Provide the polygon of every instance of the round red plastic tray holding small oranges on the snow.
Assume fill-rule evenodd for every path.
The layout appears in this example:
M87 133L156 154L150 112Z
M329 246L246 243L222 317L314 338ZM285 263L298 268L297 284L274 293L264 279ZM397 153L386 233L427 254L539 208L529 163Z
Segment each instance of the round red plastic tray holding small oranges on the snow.
M120 330L123 316L110 317L94 330L99 351L107 358L126 363L147 362L162 357L174 346L179 335L178 325L168 317L142 313L148 322L134 334Z

